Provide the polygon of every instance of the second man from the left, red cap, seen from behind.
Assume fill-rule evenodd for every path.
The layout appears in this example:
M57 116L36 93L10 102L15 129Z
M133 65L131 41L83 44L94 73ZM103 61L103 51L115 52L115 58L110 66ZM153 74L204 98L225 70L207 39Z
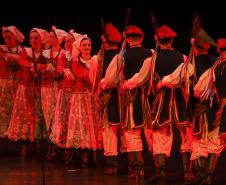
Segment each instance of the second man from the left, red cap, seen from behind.
M144 112L146 105L146 91L141 84L129 90L126 87L129 81L141 69L146 58L151 56L151 51L142 47L144 34L137 26L128 26L124 32L129 49L124 53L124 67L122 92L122 131L121 131L121 152L127 152L129 158L129 177L139 177L143 175L143 157L141 130L150 118Z

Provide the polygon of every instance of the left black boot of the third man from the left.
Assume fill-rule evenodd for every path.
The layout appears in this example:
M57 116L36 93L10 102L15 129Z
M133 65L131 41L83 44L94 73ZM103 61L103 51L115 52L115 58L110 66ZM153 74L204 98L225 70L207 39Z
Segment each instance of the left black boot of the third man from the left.
M156 182L165 179L166 155L157 154L154 156L155 173L148 179L148 182Z

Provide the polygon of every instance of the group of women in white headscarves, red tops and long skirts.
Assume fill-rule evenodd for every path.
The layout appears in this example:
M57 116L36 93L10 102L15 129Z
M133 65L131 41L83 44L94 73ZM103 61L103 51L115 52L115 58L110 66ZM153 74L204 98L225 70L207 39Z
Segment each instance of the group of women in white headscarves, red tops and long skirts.
M73 30L33 28L31 47L22 47L24 36L15 26L2 34L1 137L21 141L23 156L26 141L40 139L49 141L50 158L56 146L96 150L97 108L90 89L97 57L91 56L91 39Z

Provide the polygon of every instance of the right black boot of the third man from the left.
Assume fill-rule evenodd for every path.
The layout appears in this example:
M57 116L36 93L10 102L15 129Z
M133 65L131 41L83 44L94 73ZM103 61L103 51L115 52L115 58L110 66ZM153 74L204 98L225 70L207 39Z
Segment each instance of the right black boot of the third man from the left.
M194 175L192 172L192 162L190 161L190 158L191 158L190 152L182 153L185 185L189 185L190 182L194 180Z

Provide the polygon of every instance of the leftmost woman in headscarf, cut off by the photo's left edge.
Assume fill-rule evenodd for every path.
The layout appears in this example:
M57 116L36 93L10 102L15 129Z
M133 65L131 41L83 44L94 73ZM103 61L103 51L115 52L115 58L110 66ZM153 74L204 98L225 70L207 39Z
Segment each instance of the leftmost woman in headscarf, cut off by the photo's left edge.
M7 137L17 88L19 53L24 36L15 26L3 27L2 35L5 45L0 45L0 137Z

